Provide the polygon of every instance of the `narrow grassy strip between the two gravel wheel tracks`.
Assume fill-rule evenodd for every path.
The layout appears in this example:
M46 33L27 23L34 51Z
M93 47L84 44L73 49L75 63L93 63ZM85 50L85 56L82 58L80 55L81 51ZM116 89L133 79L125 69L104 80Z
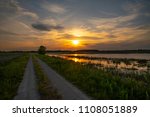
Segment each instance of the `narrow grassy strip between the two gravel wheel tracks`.
M58 91L52 86L47 76L43 73L38 61L34 57L33 59L35 74L38 79L38 91L40 93L40 98L42 100L49 99L62 99L62 96L58 93Z

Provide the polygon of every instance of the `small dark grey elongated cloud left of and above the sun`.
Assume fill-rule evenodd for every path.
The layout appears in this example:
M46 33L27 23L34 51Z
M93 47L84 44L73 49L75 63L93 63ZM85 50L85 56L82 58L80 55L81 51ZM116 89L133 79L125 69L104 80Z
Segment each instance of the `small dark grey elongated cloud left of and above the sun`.
M62 29L64 29L64 27L59 26L59 25L52 26L52 25L42 24L42 23L32 24L32 27L37 29L37 30L40 30L40 31L51 31L51 30L62 30Z

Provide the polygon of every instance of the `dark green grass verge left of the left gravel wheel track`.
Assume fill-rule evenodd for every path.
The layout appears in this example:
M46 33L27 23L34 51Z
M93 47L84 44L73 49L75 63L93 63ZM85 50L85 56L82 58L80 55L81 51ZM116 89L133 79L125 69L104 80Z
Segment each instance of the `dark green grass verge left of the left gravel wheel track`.
M13 99L23 79L28 55L0 64L0 99Z

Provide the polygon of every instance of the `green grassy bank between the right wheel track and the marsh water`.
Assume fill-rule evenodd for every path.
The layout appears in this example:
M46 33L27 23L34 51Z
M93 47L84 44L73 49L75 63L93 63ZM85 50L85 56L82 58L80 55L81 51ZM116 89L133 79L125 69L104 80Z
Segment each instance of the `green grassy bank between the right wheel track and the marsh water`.
M150 99L150 80L121 77L57 57L38 57L94 99Z

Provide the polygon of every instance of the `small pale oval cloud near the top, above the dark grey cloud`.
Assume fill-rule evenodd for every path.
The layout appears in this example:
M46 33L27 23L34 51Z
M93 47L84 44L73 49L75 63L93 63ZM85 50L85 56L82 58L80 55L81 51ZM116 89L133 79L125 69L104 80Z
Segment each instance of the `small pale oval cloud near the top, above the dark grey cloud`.
M66 12L66 9L62 5L59 5L59 4L45 3L43 5L43 8L51 13L62 14L64 12Z

